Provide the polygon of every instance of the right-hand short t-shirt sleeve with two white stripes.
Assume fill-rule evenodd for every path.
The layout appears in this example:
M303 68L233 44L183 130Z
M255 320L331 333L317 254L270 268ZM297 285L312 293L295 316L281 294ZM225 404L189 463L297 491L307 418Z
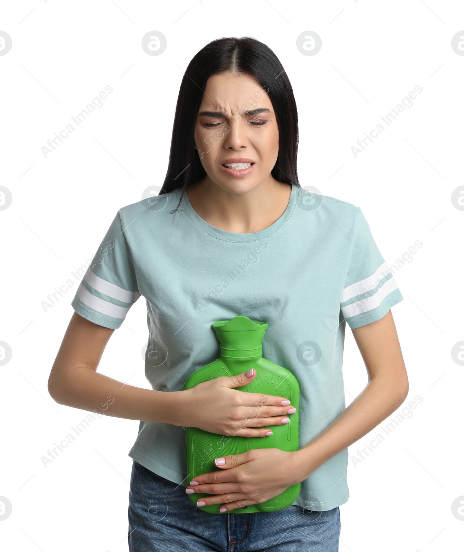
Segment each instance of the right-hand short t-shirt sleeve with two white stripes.
M351 257L340 309L350 328L359 328L380 320L403 296L361 209L356 214L349 243Z

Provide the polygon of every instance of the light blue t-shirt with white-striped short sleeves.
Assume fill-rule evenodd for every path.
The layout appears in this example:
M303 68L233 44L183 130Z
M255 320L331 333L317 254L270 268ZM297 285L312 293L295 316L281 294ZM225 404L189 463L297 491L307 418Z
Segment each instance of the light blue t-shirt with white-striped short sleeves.
M186 194L173 219L179 198L173 190L118 211L72 306L119 328L142 295L150 333L145 374L166 392L182 390L193 371L219 357L212 323L239 315L267 322L263 357L300 384L303 447L345 408L345 323L364 326L403 300L369 225L358 207L295 184L284 214L253 233L211 226ZM129 455L188 484L181 426L141 421ZM347 464L344 449L301 482L294 504L324 511L345 503Z

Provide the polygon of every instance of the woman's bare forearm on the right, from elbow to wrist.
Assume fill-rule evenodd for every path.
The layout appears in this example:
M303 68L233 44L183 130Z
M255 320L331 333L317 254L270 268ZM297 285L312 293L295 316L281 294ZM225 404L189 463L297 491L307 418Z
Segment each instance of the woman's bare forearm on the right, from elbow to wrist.
M407 383L396 385L385 378L372 379L322 433L295 453L301 480L374 429L402 404L406 395Z

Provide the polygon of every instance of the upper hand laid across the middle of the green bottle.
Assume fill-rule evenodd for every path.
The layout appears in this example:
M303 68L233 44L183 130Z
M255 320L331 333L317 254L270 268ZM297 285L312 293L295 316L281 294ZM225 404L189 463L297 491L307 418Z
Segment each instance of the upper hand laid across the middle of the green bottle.
M255 376L256 369L253 368L246 373L220 376L181 391L182 400L177 402L180 425L229 437L268 437L272 432L263 426L289 423L287 415L295 413L296 409L285 397L233 389L251 383Z

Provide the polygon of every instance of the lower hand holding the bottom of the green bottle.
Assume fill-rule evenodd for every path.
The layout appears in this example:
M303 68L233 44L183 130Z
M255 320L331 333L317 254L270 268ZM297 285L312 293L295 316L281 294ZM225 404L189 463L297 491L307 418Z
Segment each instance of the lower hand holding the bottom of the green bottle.
M218 460L225 463L218 465ZM216 495L201 498L196 505L222 504L220 512L265 502L306 477L297 463L296 453L278 448L247 450L216 458L215 463L219 470L198 475L185 492Z

